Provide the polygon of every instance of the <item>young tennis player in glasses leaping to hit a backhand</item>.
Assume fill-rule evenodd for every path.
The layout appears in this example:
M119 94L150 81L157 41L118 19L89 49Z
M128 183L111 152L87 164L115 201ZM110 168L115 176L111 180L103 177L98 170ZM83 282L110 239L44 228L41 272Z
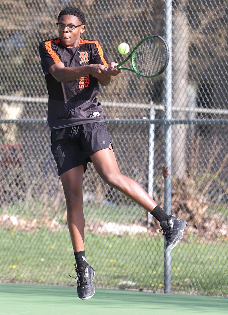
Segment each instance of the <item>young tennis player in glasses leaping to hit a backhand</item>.
M82 182L88 162L93 163L97 173L110 186L159 220L167 249L178 243L186 221L167 215L136 181L120 173L102 106L96 96L99 84L108 85L121 71L114 68L115 62L108 62L106 53L96 40L80 38L85 31L84 13L75 7L63 9L57 27L59 37L42 42L39 53L49 94L51 151L66 198L78 296L84 300L95 293L92 282L95 272L86 261L84 247Z

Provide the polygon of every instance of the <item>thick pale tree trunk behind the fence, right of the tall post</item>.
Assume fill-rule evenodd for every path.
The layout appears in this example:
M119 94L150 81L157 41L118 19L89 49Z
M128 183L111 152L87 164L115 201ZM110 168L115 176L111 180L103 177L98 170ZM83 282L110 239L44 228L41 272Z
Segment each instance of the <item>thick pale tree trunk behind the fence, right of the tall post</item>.
M185 119L184 109L188 106L188 47L189 25L187 11L183 3L179 4L173 13L173 103L172 118ZM175 110L178 109L178 110ZM172 174L175 178L182 179L187 169L186 139L187 125L173 125L172 127Z

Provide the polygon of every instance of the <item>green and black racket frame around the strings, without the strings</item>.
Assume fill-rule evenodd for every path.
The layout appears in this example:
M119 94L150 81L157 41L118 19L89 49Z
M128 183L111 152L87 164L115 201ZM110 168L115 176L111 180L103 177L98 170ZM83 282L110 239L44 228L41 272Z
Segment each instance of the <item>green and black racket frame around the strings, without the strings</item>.
M138 70L136 69L136 66L135 66L135 54L136 54L137 49L139 48L139 46L140 46L145 40L147 40L148 38L152 38L152 37L158 37L158 38L160 38L160 39L163 41L163 43L164 43L164 45L165 45L165 47L166 47L166 51L167 51L167 60L166 60L166 62L165 62L164 67L160 70L159 73L156 73L156 74L154 74L154 75L152 75L152 76L145 76L145 75L143 75L142 73L138 72ZM132 67L133 67L133 69L121 68L121 66L122 66L127 60L129 60L130 58L132 58L131 61L132 61ZM123 60L121 63L119 63L119 65L117 65L116 68L117 68L117 69L120 69L120 70L128 70L128 71L131 71L131 72L135 72L135 73L137 73L138 75L140 75L141 77L153 78L153 77L159 76L162 72L165 71L165 69L166 69L166 67L167 67L167 65L168 65L168 62L169 62L169 48L168 48L168 45L167 45L165 39L164 39L163 37L161 37L161 36L158 36L158 35L150 35L150 36L147 36L147 37L143 38L143 39L137 44L137 46L132 50L131 54L128 55L125 60Z

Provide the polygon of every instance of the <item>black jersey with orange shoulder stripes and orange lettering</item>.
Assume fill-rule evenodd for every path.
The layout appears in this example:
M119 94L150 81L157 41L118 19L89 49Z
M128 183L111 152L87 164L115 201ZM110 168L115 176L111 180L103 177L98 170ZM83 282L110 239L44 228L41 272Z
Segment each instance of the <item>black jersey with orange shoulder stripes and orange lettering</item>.
M58 82L49 72L57 62L65 67L101 64L108 67L108 57L95 40L79 39L79 46L67 48L60 38L48 39L39 46L41 66L48 89L48 123L50 129L104 121L101 103L96 96L98 80L87 75L71 82Z

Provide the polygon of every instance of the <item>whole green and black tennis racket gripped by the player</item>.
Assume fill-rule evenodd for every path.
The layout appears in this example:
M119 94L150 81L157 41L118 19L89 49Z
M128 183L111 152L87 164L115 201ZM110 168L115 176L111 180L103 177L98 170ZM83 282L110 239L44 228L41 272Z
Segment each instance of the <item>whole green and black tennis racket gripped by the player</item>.
M130 58L133 69L122 68L121 66ZM143 38L131 54L115 67L135 72L141 77L152 78L164 72L168 62L169 49L165 39L158 35L151 35Z

